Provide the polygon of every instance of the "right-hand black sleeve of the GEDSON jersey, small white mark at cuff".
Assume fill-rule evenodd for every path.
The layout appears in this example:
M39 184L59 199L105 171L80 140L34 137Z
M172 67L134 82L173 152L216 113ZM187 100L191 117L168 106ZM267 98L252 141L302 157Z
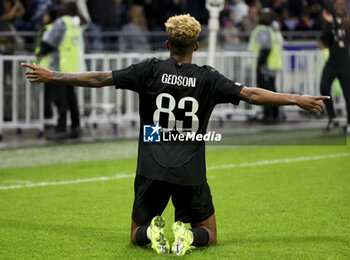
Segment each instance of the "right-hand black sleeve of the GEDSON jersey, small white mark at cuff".
M239 93L243 85L226 78L212 68L210 69L209 75L211 79L210 87L214 95L215 103L232 103L238 105L240 101Z

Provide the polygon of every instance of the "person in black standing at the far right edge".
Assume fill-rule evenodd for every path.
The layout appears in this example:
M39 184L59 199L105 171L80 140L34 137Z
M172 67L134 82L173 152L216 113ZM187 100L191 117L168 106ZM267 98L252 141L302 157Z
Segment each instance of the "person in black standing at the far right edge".
M321 78L321 93L331 94L332 82L338 78L346 101L347 125L344 127L350 133L350 17L346 9L345 0L334 0L333 6L323 10L326 24L321 37L321 48L329 48L329 59L323 69ZM328 113L326 131L339 125L332 99L325 100Z

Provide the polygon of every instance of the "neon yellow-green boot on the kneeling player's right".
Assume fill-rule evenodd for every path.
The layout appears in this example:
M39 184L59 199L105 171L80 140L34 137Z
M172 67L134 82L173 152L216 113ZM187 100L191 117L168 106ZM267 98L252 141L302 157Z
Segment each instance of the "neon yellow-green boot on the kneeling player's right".
M175 236L175 241L171 247L171 251L174 254L182 256L186 254L187 251L195 248L194 246L191 246L191 243L193 241L193 234L186 228L183 222L177 221L173 223L172 228Z

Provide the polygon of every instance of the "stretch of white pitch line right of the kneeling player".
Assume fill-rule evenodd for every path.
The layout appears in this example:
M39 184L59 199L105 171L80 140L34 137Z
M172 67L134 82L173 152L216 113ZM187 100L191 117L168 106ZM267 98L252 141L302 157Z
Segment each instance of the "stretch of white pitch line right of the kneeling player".
M207 170L210 171L210 170L217 170L217 169L251 167L251 166L259 166L259 165L278 164L278 163L293 163L293 162L313 161L313 160L340 158L340 157L348 157L348 156L350 156L350 153L315 155L315 156L308 156L308 157L286 158L286 159L277 159L277 160L268 160L268 161L257 161L257 162L246 162L246 163L211 166L211 167L207 167Z

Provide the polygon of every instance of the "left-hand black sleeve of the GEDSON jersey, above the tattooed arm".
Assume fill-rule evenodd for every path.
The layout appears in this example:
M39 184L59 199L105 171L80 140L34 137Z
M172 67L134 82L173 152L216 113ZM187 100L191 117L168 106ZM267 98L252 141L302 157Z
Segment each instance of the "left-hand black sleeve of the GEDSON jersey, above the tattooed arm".
M146 60L121 70L112 71L116 88L139 92L147 78L151 75L153 60Z

